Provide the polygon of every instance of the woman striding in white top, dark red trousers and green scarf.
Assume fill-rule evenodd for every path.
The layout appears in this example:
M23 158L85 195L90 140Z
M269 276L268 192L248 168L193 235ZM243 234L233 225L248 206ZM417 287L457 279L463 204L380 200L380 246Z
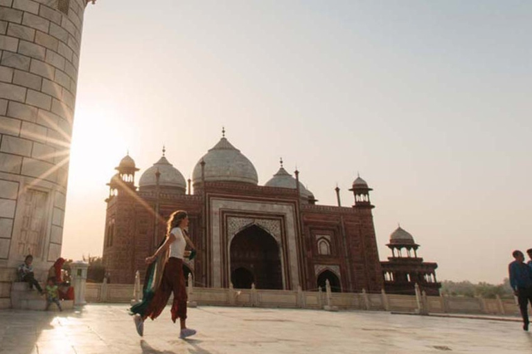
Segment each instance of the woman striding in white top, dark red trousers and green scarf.
M175 323L179 318L181 331L179 338L195 335L196 331L186 327L186 288L183 274L183 259L195 256L195 246L186 232L188 215L178 210L170 215L167 223L166 239L155 253L146 258L149 264L143 288L142 302L132 306L130 313L134 315L136 331L139 335L144 332L144 320L147 317L156 319L165 308L174 293L174 301L170 313ZM191 251L186 251L186 245Z

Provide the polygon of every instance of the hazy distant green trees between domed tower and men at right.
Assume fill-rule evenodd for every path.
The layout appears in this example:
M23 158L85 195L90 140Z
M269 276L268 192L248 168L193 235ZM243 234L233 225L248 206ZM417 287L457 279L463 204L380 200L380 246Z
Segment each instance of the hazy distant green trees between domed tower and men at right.
M484 281L471 283L470 281L444 280L441 282L440 292L449 296L484 297L485 299L495 299L497 295L503 299L513 298L513 291L508 278L504 278L502 284L499 285Z

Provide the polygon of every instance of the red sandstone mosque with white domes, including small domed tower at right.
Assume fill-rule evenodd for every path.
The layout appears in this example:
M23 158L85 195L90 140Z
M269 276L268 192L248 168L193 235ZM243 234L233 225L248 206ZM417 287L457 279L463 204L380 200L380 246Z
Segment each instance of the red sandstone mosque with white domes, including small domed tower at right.
M436 263L417 257L418 245L405 230L391 234L393 257L380 262L372 189L360 176L350 189L353 207L317 205L299 172L294 178L282 160L276 174L258 185L254 165L224 134L199 158L188 183L164 149L138 188L139 169L130 156L116 170L108 184L103 247L113 283L133 283L136 270L143 277L144 259L165 236L168 216L184 209L198 250L185 271L196 286L317 290L328 279L333 291L411 294L418 283L427 295L438 295Z

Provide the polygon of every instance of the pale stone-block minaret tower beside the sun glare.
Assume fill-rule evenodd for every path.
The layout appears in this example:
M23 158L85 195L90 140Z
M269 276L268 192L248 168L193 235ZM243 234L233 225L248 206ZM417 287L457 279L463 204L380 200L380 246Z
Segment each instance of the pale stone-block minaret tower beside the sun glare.
M38 277L61 255L87 2L0 2L0 273L33 254Z

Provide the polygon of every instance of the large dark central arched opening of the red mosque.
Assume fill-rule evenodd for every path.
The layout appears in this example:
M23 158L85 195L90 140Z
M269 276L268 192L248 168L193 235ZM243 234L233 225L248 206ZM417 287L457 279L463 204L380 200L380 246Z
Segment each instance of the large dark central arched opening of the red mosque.
M251 225L231 241L231 282L235 288L251 282L258 289L282 289L281 259L274 237L263 228ZM250 282L251 281L251 282Z

